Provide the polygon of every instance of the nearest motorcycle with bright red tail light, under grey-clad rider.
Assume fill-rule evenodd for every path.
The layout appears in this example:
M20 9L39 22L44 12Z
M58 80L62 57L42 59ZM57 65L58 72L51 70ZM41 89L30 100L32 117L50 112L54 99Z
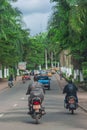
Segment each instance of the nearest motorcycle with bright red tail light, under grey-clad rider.
M45 114L44 108L41 105L41 99L34 97L30 103L31 117L35 119L36 124L39 123L39 119Z

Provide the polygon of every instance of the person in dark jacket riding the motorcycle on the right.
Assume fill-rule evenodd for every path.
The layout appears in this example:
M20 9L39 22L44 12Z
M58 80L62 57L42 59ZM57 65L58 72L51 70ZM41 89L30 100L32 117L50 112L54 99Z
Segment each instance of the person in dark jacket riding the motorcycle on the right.
M66 107L67 107L67 103L68 103L67 102L67 97L69 97L69 96L75 96L76 103L78 103L77 91L78 91L78 88L76 87L76 85L70 79L68 81L68 84L63 89L63 94L66 93L66 96L65 96Z

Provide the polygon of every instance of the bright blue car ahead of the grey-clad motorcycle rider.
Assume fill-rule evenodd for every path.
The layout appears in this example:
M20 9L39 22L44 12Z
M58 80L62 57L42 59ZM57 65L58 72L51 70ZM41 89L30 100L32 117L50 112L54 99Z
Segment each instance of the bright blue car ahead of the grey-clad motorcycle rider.
M50 78L48 76L38 76L38 82L42 83L45 88L50 90Z

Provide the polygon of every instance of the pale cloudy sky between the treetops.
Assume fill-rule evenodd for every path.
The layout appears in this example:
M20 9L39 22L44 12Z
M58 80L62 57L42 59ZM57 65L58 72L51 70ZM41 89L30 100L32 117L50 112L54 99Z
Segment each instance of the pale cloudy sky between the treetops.
M50 0L18 0L15 7L23 13L23 21L31 35L46 31L48 18L52 12Z

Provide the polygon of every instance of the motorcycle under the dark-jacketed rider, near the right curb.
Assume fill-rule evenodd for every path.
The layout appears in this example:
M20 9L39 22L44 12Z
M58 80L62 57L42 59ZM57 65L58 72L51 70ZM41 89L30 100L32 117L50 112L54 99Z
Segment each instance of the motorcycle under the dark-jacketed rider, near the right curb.
M76 102L76 97L75 96L69 96L67 97L67 104L66 104L66 109L69 109L71 114L74 114L74 110L77 109L78 103Z

